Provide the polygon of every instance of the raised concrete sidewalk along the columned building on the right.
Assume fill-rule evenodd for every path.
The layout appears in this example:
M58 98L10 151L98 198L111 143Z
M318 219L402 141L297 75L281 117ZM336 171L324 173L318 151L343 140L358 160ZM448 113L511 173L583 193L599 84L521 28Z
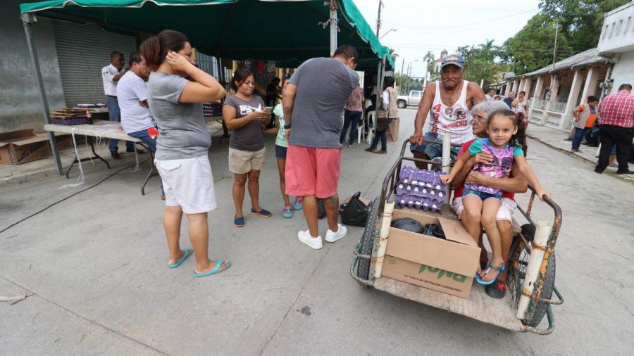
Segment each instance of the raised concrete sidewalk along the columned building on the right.
M552 129L551 127L536 125L533 122L530 122L528 124L526 136L536 141L540 141L542 144L556 149L561 153L565 153L580 160L584 160L585 162L590 164L590 167L588 168L589 172L594 173L595 166L597 165L597 160L599 160L599 151L597 147L588 147L585 145L581 145L580 149L581 151L583 151L582 153L571 153L570 150L572 146L572 141L564 140L568 137L565 132L559 131L558 129ZM634 165L631 163L630 170L634 170ZM634 182L634 174L616 174L616 167L607 167L607 169L604 171L604 174L611 174L614 175L614 177L618 177L619 179L623 179L628 182Z

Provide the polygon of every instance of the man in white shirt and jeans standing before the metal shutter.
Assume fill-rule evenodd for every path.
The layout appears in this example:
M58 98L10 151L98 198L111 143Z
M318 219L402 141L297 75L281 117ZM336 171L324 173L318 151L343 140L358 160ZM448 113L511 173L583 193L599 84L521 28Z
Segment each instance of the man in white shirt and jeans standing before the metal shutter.
M125 69L125 58L123 53L110 53L110 64L101 68L101 79L104 81L104 94L106 94L106 106L108 106L108 117L110 121L121 121L119 103L117 101L117 83L123 77ZM110 155L112 158L120 159L118 152L119 140L109 139ZM134 152L134 144L130 141L125 142L125 151Z

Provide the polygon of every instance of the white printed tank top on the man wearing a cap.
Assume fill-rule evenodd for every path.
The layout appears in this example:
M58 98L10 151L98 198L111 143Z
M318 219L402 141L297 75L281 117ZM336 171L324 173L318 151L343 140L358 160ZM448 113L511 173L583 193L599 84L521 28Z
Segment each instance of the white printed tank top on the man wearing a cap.
M438 136L451 135L452 144L464 144L475 138L473 136L473 117L471 117L471 110L466 105L467 84L466 80L462 81L460 97L454 106L445 106L442 103L440 82L436 82L436 95L431 108L431 131Z

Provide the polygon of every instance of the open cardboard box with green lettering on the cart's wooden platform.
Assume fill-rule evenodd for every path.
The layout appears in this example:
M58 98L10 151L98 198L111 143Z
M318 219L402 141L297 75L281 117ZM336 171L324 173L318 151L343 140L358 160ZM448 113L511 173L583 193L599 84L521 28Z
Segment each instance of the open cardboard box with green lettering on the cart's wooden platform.
M480 248L459 221L394 209L392 220L411 217L421 224L440 222L445 239L390 227L381 275L442 293L469 298Z

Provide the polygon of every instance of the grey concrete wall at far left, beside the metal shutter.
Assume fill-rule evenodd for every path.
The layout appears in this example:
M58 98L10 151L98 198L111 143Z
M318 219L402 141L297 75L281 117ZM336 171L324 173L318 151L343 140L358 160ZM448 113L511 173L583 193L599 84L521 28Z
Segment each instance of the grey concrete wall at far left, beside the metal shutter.
M20 19L20 2L24 1L0 2L0 132L44 122L35 70ZM53 26L49 20L38 18L33 32L49 107L66 106Z

